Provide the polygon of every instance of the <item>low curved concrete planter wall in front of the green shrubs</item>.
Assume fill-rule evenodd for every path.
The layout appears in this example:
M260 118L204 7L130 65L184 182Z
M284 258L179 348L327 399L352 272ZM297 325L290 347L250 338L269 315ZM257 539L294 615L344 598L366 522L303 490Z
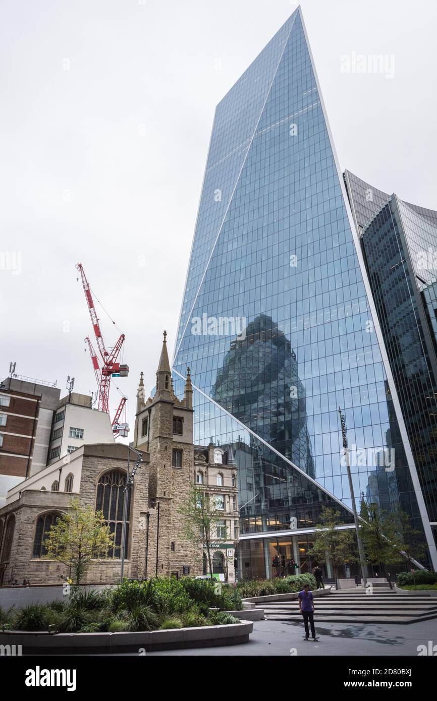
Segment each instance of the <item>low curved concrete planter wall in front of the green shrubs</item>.
M21 645L23 655L80 655L126 653L178 648L208 648L239 645L249 641L253 622L210 625L150 633L46 633L5 631L0 645Z

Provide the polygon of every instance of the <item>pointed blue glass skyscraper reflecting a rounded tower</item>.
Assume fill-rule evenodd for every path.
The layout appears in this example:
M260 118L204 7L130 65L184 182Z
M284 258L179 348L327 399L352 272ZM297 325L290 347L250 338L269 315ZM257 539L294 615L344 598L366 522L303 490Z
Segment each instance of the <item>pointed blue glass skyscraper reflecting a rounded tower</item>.
M215 111L177 394L187 366L196 444L238 464L240 576L307 571L323 505L353 523L338 407L356 501L401 505L435 559L300 8Z

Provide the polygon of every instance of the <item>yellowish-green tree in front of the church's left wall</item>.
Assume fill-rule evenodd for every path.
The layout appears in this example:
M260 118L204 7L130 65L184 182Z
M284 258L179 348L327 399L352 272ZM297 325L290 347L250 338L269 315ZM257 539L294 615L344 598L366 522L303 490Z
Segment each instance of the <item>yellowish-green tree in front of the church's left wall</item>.
M69 511L48 531L44 557L69 567L74 586L79 586L90 560L107 559L113 543L114 533L109 533L102 512L95 512L90 505L83 507L79 499L74 499Z

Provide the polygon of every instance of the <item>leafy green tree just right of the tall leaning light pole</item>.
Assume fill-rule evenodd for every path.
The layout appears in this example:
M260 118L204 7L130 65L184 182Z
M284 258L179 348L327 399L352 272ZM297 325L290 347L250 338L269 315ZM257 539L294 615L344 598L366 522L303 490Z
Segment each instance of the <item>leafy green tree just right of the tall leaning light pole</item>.
M375 503L361 499L361 533L368 562L379 564L386 576L386 566L407 559L419 559L424 554L420 531L412 528L411 519L400 508L379 509Z

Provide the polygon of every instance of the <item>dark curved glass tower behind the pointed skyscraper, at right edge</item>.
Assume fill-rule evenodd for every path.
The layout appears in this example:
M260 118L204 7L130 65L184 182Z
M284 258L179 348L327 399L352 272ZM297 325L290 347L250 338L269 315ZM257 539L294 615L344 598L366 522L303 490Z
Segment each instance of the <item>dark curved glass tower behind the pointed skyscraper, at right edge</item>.
M344 177L426 510L437 524L437 212L386 193L375 201L370 184L349 171Z

